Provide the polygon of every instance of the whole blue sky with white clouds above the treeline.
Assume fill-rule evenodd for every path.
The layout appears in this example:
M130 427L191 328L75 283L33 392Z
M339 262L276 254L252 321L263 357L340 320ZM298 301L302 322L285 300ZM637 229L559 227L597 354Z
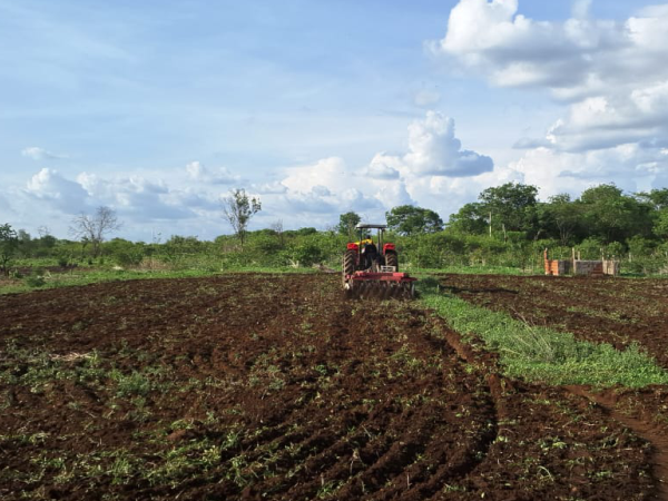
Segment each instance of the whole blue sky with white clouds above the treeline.
M213 238L237 187L255 228L326 228L446 219L510 180L666 186L667 22L630 0L0 0L0 223L66 237L107 205L119 236Z

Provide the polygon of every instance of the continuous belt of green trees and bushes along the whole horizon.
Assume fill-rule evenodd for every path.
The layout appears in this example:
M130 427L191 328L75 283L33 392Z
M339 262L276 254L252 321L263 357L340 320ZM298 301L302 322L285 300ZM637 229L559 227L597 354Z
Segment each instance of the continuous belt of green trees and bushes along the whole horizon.
M338 269L345 244L358 238L354 226L360 220L351 212L328 230L284 230L275 224L271 229L244 232L243 240L237 235L213 242L175 235L159 243L91 242L90 236L77 242L50 235L32 238L4 225L0 226L0 266L9 269L11 259L41 259L63 267L219 271L322 264ZM552 257L569 258L574 247L582 258L620 259L623 273L668 273L667 188L628 195L608 184L589 188L579 198L558 195L539 202L537 187L509 183L485 189L446 223L435 212L414 206L394 207L386 222L386 239L396 243L402 267L503 266L540 273L544 248Z

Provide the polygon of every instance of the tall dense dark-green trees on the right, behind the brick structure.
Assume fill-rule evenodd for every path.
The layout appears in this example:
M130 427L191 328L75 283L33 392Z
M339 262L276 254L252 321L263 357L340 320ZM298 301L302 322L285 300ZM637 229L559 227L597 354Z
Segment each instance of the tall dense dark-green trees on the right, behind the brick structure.
M613 184L589 188L577 199L567 194L540 203L538 188L512 184L488 188L479 202L464 205L448 227L471 235L508 238L511 232L527 239L556 239L563 246L595 238L618 243L620 252L642 238L659 245L668 236L668 188L626 195ZM491 222L491 223L490 223Z

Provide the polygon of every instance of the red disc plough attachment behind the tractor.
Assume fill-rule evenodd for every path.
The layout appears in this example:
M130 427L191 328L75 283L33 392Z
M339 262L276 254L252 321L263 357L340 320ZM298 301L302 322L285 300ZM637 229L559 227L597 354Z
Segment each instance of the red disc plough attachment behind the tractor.
M344 276L343 288L348 297L354 298L411 299L415 296L416 281L407 273L355 272Z

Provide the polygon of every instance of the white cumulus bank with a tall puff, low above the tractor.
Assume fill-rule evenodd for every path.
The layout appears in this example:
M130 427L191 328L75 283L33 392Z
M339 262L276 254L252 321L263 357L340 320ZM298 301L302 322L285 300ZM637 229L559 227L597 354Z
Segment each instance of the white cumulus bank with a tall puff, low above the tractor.
M266 206L308 215L314 222L347 210L382 220L386 210L399 205L448 214L495 178L520 176L510 169L494 173L490 157L462 149L454 120L438 111L426 111L409 125L407 143L407 151L377 153L364 168L350 168L338 157L288 168L281 181L286 191L278 199L269 197Z

